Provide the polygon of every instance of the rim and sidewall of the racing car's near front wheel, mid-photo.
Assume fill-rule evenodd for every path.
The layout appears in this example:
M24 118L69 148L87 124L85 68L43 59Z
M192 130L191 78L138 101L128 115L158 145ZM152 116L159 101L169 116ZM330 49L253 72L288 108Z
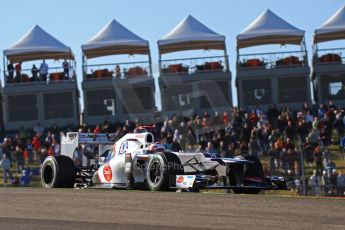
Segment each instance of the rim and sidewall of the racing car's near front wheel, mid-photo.
M146 168L146 181L151 191L169 189L168 161L163 153L154 154Z

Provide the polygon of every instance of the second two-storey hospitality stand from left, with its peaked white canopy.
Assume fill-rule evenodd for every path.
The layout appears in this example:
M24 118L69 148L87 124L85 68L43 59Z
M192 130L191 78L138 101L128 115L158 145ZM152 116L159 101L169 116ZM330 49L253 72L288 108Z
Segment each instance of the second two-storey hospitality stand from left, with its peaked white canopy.
M105 117L152 122L155 113L154 79L149 42L113 20L82 46L84 121L102 123ZM147 61L90 64L112 55L144 55Z

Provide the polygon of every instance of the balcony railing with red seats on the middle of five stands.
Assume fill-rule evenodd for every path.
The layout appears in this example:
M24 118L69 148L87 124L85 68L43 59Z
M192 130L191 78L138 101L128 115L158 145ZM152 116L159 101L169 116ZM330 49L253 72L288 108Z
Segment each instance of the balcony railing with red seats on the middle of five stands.
M200 72L226 71L224 56L162 60L161 74L195 74Z

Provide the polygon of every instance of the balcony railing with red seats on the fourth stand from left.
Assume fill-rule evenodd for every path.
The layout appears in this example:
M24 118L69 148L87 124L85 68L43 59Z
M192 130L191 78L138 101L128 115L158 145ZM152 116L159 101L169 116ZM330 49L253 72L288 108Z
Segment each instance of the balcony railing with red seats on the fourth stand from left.
M282 67L306 66L304 51L275 52L259 54L241 54L238 58L238 69L274 69Z

